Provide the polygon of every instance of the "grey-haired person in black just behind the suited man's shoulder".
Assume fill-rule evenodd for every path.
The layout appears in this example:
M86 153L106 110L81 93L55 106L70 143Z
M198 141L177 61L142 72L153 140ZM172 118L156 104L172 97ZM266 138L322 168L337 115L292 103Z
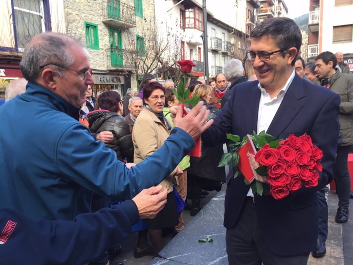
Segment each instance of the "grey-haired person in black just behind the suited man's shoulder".
M226 62L223 68L223 72L227 77L228 81L231 82L227 93L223 96L220 101L221 108L224 107L228 98L231 95L231 90L236 84L240 84L242 82L248 81L248 77L245 76L244 67L242 67L242 63L238 59L231 59Z

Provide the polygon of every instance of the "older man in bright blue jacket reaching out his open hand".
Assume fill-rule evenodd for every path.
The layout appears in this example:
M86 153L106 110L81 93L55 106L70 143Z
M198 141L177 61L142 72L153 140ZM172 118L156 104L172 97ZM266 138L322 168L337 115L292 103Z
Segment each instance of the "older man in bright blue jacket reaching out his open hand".
M185 117L180 108L165 144L129 169L78 122L87 86L94 83L89 55L78 41L39 34L20 68L26 93L0 109L0 207L30 217L73 220L91 211L93 192L120 201L134 197L173 171L212 123L206 123L202 104Z

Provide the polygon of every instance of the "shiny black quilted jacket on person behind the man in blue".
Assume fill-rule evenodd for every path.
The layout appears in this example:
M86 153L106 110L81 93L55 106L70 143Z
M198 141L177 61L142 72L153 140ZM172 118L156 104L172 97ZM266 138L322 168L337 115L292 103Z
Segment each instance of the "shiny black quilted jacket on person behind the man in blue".
M104 109L91 112L87 115L92 133L111 131L113 140L105 143L105 147L113 149L120 161L134 162L134 144L131 138L129 125L126 120L115 112Z

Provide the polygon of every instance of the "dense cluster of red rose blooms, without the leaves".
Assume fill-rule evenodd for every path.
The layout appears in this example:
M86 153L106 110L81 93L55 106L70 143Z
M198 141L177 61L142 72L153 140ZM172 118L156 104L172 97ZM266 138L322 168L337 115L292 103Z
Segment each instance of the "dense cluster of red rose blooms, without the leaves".
M278 200L303 185L306 188L317 186L318 171L322 171L321 158L322 151L313 145L310 136L290 135L277 147L265 144L255 154L255 160L260 164L256 172L267 175L270 194Z

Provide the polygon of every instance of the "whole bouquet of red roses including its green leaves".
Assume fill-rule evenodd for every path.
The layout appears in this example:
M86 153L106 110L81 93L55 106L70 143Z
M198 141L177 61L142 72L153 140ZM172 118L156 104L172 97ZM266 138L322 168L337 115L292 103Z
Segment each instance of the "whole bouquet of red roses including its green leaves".
M255 161L260 164L256 169L256 173L266 176L268 184L262 184L258 181L252 181L253 174L250 172L242 172L245 176L245 182L251 184L253 193L259 195L272 195L276 200L288 196L291 192L304 187L315 187L318 185L319 172L322 171L320 164L322 151L313 145L310 136L304 134L300 137L290 135L285 140L274 140L274 137L261 131L260 134L255 133L252 136L245 137L242 142L238 136L227 135L228 139L236 140L231 146L234 147L229 153L224 154L218 166L228 165L232 162L235 167L234 178L238 175L239 166L246 169L250 166L247 156L239 156L242 154L242 148L252 141L254 146ZM248 152L249 153L249 152ZM248 155L247 153L247 155ZM244 161L241 161L243 159ZM238 166L238 167L237 167ZM248 181L249 180L249 181Z

